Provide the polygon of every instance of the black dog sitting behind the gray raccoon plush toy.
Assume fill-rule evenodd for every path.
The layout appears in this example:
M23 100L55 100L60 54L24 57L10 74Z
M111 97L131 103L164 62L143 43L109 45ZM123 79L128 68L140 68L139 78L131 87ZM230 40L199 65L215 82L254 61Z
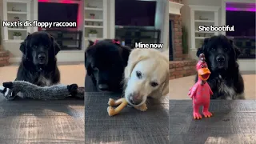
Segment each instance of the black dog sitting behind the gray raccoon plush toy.
M21 43L22 62L18 67L17 81L26 81L37 86L51 86L60 82L57 59L60 47L46 32L28 34ZM43 55L40 60L39 55Z

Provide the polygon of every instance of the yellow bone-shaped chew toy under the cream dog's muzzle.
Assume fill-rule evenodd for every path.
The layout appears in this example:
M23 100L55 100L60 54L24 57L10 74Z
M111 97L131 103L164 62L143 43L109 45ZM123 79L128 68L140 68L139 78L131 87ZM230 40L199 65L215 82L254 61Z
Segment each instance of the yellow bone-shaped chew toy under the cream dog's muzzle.
M128 102L126 101L126 98L120 98L117 101L114 101L114 99L110 98L108 105L109 106L107 107L107 113L109 114L109 116L113 116L120 113L120 111L128 105ZM112 106L118 107L114 109ZM134 106L134 108L141 111L147 110L146 103L142 104L141 106Z

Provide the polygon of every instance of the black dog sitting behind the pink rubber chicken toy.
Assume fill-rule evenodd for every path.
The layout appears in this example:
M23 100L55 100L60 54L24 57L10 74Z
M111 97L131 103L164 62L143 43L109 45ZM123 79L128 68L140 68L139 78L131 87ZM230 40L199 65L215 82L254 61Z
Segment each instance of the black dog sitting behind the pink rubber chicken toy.
M206 55L211 72L207 80L214 92L211 98L244 99L244 82L237 62L240 51L233 41L224 35L206 38L197 56L201 53Z

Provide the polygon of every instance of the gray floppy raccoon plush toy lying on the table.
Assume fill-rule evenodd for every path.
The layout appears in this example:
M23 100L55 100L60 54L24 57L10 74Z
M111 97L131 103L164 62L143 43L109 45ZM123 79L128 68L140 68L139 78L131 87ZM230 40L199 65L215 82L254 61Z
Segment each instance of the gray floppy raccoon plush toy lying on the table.
M83 98L84 94L77 84L41 87L25 81L3 82L0 92L7 100L13 100L17 95L22 98L56 100L67 97Z

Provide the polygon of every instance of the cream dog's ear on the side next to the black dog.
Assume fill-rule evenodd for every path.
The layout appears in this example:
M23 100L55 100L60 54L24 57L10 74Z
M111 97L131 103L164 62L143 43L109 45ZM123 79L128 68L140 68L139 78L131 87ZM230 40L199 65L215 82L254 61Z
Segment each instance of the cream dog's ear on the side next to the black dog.
M131 51L130 56L128 58L128 63L125 68L125 78L130 78L130 74L134 70L134 67L138 62L142 61L142 59L148 58L146 56L146 50L143 49L134 49Z

